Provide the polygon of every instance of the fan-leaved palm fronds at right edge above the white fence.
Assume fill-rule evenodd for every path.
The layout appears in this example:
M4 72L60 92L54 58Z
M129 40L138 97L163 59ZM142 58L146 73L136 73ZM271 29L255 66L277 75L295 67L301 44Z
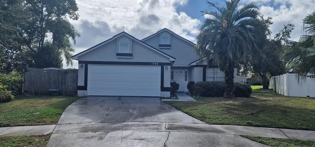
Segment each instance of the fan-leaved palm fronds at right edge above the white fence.
M286 63L294 65L293 70L300 79L305 79L308 72L315 72L315 11L303 19L305 35L299 42L289 41L283 53Z

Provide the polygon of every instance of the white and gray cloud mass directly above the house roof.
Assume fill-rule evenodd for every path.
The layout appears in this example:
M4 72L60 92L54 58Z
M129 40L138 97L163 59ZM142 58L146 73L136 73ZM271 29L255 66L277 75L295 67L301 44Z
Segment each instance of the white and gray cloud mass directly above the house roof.
M176 7L187 4L187 0L77 0L79 20L71 23L81 33L77 38L75 54L96 45L112 36L126 31L145 38L160 29L168 28L194 42L200 21L184 12L176 13ZM74 60L73 67L77 67ZM64 68L67 68L64 64Z

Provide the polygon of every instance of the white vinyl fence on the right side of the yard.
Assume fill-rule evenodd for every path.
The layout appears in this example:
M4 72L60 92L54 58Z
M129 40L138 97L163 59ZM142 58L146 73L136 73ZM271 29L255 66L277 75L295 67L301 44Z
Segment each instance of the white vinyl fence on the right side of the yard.
M276 93L292 97L315 97L315 75L308 73L305 80L298 82L296 74L273 76L269 89Z

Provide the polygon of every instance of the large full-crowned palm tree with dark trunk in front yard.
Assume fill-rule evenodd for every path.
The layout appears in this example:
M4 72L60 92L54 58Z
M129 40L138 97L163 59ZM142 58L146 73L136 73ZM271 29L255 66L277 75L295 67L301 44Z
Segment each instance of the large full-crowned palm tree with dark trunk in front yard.
M239 4L240 0L226 1L224 5L208 3L201 11L206 19L196 37L195 52L211 57L225 71L225 98L233 98L234 67L253 52L259 52L263 32L258 20L256 3Z

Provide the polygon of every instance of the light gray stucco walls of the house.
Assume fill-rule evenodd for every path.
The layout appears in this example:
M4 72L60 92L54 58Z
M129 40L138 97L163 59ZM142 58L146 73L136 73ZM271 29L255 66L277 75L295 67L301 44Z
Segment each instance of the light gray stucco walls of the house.
M161 36L163 33L168 33L169 44L162 43ZM129 40L129 53L118 54L119 40L122 38ZM88 93L87 73L89 64L151 65L151 63L159 63L157 66L161 66L161 97L169 97L170 82L175 81L174 71L184 73L180 76L183 81L180 82L181 90L179 91L188 92L186 86L189 81L206 81L208 76L208 72L206 73L208 70L207 60L198 57L194 50L195 44L193 42L166 28L141 41L125 32L119 33L109 40L72 56L72 59L79 61L78 96L86 96ZM216 68L215 71L218 71L217 67L213 66L212 68ZM237 70L235 69L235 82L237 81L236 78Z

